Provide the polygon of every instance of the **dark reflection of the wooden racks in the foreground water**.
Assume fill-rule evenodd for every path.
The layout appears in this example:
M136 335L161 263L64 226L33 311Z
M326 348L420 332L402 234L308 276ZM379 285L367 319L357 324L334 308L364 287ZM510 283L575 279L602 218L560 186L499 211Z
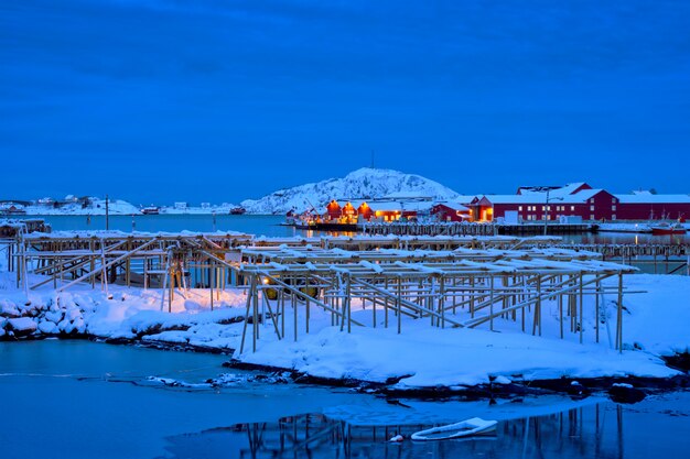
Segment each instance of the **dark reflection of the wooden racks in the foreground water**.
M397 433L409 437L430 426L351 425L321 414L306 414L172 437L166 449L174 458L635 457L624 455L626 414L621 405L603 403L502 420L490 437L432 442L406 439L401 444L387 440Z

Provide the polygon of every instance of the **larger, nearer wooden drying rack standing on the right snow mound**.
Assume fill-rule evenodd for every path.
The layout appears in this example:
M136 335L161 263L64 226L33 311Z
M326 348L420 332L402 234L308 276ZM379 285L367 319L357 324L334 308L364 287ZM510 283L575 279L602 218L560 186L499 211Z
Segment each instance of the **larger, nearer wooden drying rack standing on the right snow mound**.
M352 317L353 300L371 306L370 326L391 320L401 332L402 317L429 319L433 327L474 328L519 320L522 331L541 335L542 305L556 302L560 338L564 324L583 342L584 298L594 297L595 317L602 316L604 295L617 305L615 348L623 346L623 275L629 266L600 260L601 255L571 250L483 250L452 252L363 251L347 252L311 248L251 248L242 250L246 264L239 273L247 280L244 351L251 323L252 350L260 335L259 323L270 318L279 339L285 334L288 303L292 308L292 336L298 338L298 306L303 305L304 330L310 310L331 314L332 325L351 331L363 326ZM618 278L616 286L602 282ZM310 296L308 289L316 295ZM270 292L270 295L267 294ZM464 314L460 314L463 313ZM382 314L377 319L377 314ZM468 317L467 317L468 316ZM249 320L251 319L251 320ZM595 340L600 340L595 321Z

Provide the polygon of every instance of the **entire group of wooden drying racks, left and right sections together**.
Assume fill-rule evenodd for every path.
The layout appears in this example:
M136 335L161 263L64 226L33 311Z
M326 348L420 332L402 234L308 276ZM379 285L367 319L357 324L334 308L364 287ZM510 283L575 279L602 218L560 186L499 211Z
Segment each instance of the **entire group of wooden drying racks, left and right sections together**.
M292 312L298 339L313 308L331 315L332 325L351 331L366 326L355 308L370 307L371 327L401 332L402 318L432 327L495 327L513 323L525 332L542 334L545 304L558 305L560 338L565 324L583 342L585 297L594 298L594 340L600 340L604 296L617 305L615 348L623 347L623 275L636 271L602 261L596 252L553 247L559 238L320 238L256 239L241 233L78 232L21 234L13 250L17 284L25 291L53 284L64 291L77 284L132 285L134 276L150 287L158 280L161 310L171 310L175 288L208 288L211 307L229 283L247 289L240 352L259 325L270 319L279 339L288 336ZM314 242L312 244L312 242ZM196 273L196 275L190 275ZM41 277L30 274L41 274ZM188 281L187 281L188 277ZM617 283L603 281L617 277ZM628 293L628 292L626 292ZM586 307L591 307L592 302ZM302 310L301 313L299 310ZM358 316L362 314L358 313ZM251 326L251 328L249 328Z

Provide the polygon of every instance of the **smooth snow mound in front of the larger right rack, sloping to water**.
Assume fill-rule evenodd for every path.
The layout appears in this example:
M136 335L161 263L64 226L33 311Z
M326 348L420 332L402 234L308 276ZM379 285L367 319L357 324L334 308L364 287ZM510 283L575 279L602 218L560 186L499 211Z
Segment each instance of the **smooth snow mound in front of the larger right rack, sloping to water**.
M370 382L402 380L399 389L476 385L489 376L509 381L568 378L651 376L677 372L654 356L616 351L596 345L497 334L472 329L411 327L395 330L358 328L352 334L328 327L299 342L261 343L239 360L321 378Z

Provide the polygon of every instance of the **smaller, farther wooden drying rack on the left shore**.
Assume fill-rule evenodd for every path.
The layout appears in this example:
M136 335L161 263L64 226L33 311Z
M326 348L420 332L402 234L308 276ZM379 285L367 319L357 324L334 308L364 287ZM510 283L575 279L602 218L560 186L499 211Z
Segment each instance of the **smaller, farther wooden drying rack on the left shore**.
M115 282L130 286L133 277L147 288L158 278L159 286L168 289L170 310L175 286L186 287L191 272L197 274L200 286L211 289L213 306L214 288L224 288L228 278L219 261L250 240L242 233L58 232L21 234L10 253L15 259L17 286L26 292L45 284L62 292L85 282L107 291ZM42 277L30 284L29 274Z

